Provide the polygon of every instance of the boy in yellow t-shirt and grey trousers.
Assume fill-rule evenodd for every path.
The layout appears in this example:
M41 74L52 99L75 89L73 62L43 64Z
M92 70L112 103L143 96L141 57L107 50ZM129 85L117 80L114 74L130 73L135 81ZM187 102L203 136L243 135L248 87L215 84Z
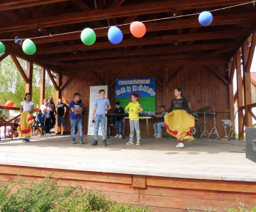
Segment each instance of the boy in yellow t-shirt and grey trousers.
M133 135L134 129L136 130L137 134L137 145L140 145L140 122L139 122L139 113L143 112L142 106L137 102L138 95L132 94L131 99L132 102L129 102L127 107L125 107L125 111L129 113L129 142L127 145L133 144Z

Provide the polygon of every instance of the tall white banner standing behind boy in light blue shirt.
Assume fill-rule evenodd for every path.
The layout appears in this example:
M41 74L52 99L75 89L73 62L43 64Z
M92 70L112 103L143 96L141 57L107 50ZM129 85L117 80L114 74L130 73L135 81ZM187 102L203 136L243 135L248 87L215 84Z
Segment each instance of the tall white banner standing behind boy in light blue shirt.
M90 105L89 105L89 124L88 124L88 134L94 135L94 123L91 122L92 113L94 111L94 105L97 99L99 99L99 90L105 90L105 98L108 98L108 86L90 86ZM106 107L107 108L107 107ZM106 121L106 130L107 130L107 121ZM101 124L99 124L99 133L102 135Z

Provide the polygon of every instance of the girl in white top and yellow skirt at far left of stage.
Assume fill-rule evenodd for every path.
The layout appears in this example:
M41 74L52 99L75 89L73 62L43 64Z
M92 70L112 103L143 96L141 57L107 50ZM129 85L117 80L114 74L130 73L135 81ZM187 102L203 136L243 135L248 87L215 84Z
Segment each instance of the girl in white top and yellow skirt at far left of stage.
M20 124L18 125L18 137L24 137L23 142L29 142L32 136L32 124L34 119L34 103L31 102L31 94L26 93L25 101L20 103Z

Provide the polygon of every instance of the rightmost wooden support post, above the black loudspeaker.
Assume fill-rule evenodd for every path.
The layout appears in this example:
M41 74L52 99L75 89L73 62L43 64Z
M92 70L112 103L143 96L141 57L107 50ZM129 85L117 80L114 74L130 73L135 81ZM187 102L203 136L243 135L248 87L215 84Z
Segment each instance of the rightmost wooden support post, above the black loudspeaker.
M253 47L254 48L254 47ZM244 73L244 106L245 106L245 126L252 126L252 115L248 111L247 105L252 104L251 75L246 72L247 61L249 56L249 42L245 42L242 46L243 50L243 73ZM250 51L253 53L254 51Z

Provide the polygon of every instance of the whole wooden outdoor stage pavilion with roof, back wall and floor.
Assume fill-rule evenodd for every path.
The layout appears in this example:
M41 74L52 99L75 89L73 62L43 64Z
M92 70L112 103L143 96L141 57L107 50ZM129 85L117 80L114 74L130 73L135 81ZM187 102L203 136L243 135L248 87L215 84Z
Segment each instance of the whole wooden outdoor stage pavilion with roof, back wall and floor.
M6 50L0 55L0 61L12 57L20 72L18 77L26 81L26 92L32 96L33 64L42 67L40 102L35 104L42 105L45 98L46 72L56 88L56 104L59 97L69 104L73 94L80 93L85 108L84 135L88 132L90 86L108 86L110 113L113 113L116 79L155 77L158 114L159 105L169 108L174 88L181 87L192 111L211 106L208 111L218 113L217 130L222 137L225 135L222 119L233 121L235 115L233 78L236 75L240 140L203 137L185 143L186 148L181 150L175 148L176 141L167 137L166 132L162 140L149 138L145 124L140 125L144 137L136 149L127 147L124 140L123 147L120 142L109 141L109 147L100 146L98 151L89 142L74 148L69 136L62 136L63 144L60 136L36 137L28 144L2 140L0 176L3 178L0 181L10 181L18 171L28 180L40 179L54 171L61 176L63 186L74 181L89 189L105 191L115 200L135 205L145 203L154 211L186 211L188 208L202 211L202 205L224 211L227 205L237 205L236 197L252 208L256 199L256 164L245 158L244 129L252 126L252 118L256 119L252 113L256 104L252 104L250 79L256 45L255 10L254 2L244 0L1 1L0 41ZM198 15L203 11L211 11L214 17L209 26L198 22ZM132 36L129 23L133 21L145 21L145 36ZM118 26L124 34L119 44L109 41L110 26ZM80 40L80 33L86 28L94 29L97 35L93 45L84 45ZM27 38L37 46L36 53L30 56L23 52L20 43ZM19 39L19 43L15 39ZM17 58L27 61L26 70ZM10 109L19 110L18 107ZM213 128L212 120L212 116L206 117L208 129ZM156 120L148 122L149 134L153 135ZM197 124L203 129L202 118ZM67 129L70 130L69 121ZM126 127L124 135L128 134L129 127ZM92 138L87 137L91 142ZM170 140L173 148L167 150ZM162 149L156 147L156 143L161 142ZM63 145L66 151L60 152L54 143L59 148ZM115 143L120 145L116 150L124 151L123 154L111 151ZM241 148L235 150L235 146ZM78 156L79 162L67 162L65 155L73 159ZM121 163L121 159L130 161L132 166ZM172 166L172 162L176 166ZM148 163L152 166L147 166Z

